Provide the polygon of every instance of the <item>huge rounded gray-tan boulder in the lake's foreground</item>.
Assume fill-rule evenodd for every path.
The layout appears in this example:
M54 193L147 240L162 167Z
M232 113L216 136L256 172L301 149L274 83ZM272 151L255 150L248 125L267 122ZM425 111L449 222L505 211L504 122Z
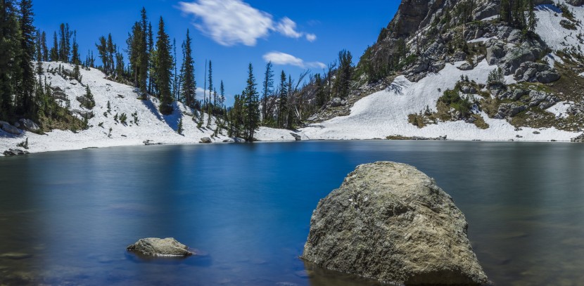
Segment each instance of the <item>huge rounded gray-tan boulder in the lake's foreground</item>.
M406 164L364 164L322 199L303 259L405 285L483 285L464 214L436 182Z

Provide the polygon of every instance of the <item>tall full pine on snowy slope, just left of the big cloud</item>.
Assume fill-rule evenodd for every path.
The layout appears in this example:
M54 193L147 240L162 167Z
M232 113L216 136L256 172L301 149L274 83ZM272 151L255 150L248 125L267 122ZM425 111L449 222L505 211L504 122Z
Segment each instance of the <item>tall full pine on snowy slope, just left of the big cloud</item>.
M158 40L156 41L156 85L160 91L160 112L164 115L172 113L172 93L170 81L172 78L172 56L170 55L170 38L165 32L165 24L162 17L158 25Z

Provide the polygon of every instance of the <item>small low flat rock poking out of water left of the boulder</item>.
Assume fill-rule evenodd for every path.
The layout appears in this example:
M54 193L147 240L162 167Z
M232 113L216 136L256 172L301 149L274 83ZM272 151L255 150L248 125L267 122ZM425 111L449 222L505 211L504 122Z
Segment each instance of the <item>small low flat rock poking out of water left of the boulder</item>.
M146 256L190 256L189 247L174 238L142 238L127 247L129 252L137 252Z

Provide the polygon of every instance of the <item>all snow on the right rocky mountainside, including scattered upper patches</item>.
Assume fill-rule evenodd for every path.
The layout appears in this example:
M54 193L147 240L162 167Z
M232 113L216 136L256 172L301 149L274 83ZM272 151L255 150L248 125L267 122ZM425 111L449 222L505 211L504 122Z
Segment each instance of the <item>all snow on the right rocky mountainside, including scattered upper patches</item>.
M404 5L403 3L404 2L402 2L402 5ZM564 3L564 1L560 1L560 3ZM572 11L576 20L584 20L584 6L569 6L569 9ZM545 57L551 65L554 65L556 61L558 63L563 63L561 58L557 56L558 52L565 51L566 49L576 52L580 51L580 53L584 51L584 27L581 23L580 25L576 25L576 30L567 30L565 27L562 27L560 22L565 20L565 18L562 17L559 8L552 5L537 6L535 13L539 19L538 27L535 32L540 35L542 40L545 41L545 44L550 48L548 51L552 51L552 53ZM478 20L484 19L479 18ZM493 16L488 16L488 21L490 20L493 20ZM524 54L524 45L521 45L519 41L516 40L509 40L508 42L499 41L500 38L505 38L505 40L507 40L507 38L512 39L514 37L514 31L509 32L511 30L509 28L493 24L493 28L490 28L490 31L485 28L483 29L490 33L488 37L483 36L483 31L478 31L476 33L471 31L470 33L467 33L468 35L465 35L466 41L468 43L479 44L487 42L493 44L493 46L502 43L500 45L503 48L500 48L499 51L494 51L492 54L487 54L486 59L481 60L478 64L475 63L471 70L468 68L457 68L466 62L454 62L452 60L449 62L449 56L446 56L443 69L439 72L431 72L430 69L433 65L439 65L436 63L436 60L434 60L429 64L430 68L427 75L419 79L418 82L410 81L409 79L411 79L412 76L411 74L410 76L407 76L406 72L406 76L400 75L396 77L393 83L385 90L373 93L372 95L357 101L353 108L350 109L350 115L309 124L302 129L303 134L312 139L350 140L386 138L388 136L417 136L426 138L447 136L448 139L454 140L486 141L570 141L571 138L581 134L581 129L576 131L576 128L571 131L564 131L566 129L559 130L553 126L540 128L521 126L518 128L511 124L512 118L510 117L494 119L493 116L489 117L484 111L478 112L478 110L476 110L475 113L483 117L485 123L489 126L487 129L479 129L476 125L466 123L464 120L438 122L437 124L429 124L423 128L418 128L417 126L412 125L411 122L408 122L409 115L415 115L421 110L425 110L426 106L428 106L432 112L436 112L438 98L443 96L443 91L446 89L454 89L461 76L469 77L469 80L475 81L477 84L487 84L488 74L493 70L497 70L497 67L502 67L504 72L509 74L505 77L507 81L506 83L518 84L516 81L517 75L514 76L514 74L516 74L519 64L532 60L521 59L521 61L519 61L516 60L517 58L512 58L512 54ZM507 29L507 32L501 32L505 31L505 29ZM424 39L421 41L424 41ZM436 44L431 47L433 46L436 46ZM496 53L502 53L503 49L504 51L509 49L509 53L506 57L502 56L497 62L498 59L493 55L496 55ZM436 50L442 51L440 48L437 48ZM489 51L487 51L487 53L489 53ZM482 58L485 58L485 56ZM478 59L480 60L481 58ZM504 63L504 60L507 60L507 63ZM535 60L537 60L537 58L535 58ZM492 62L491 65L489 65L489 61ZM466 63L466 65L468 65L468 63ZM426 66L428 65L426 64ZM562 76L564 76L564 74L562 74ZM519 74L519 77L523 77L523 74ZM526 86L529 85L526 83ZM529 89L532 89L533 91L533 89L535 89L533 86L535 85L531 85L527 91L529 91ZM547 87L553 88L553 86L553 83L540 84L538 88L541 89L543 87L547 89ZM521 87L524 88L523 86ZM486 89L483 89L482 91L485 93L487 92ZM570 98L571 95L566 95L561 92L555 95L558 96L559 99L556 98L555 102L552 100L552 106L544 106L542 110L540 110L545 116L551 117L552 121L554 116L556 119L565 119L567 117L566 111L573 108L573 105L575 104L575 102L571 100L563 100L565 97ZM478 97L478 95L476 96ZM498 96L499 94L493 94L490 97L495 99ZM581 99L582 98L580 98L580 100ZM510 101L509 99L503 98L501 102L507 102L504 100ZM529 103L529 101L527 102ZM581 123L582 122L579 124Z

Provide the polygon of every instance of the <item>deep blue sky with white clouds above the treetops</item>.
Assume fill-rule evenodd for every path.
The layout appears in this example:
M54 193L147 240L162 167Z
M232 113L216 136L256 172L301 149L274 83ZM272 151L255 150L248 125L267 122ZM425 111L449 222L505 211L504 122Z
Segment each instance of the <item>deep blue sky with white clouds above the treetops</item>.
M162 16L177 45L186 29L193 37L197 85L203 86L205 59L213 62L213 79L222 79L229 95L241 93L248 63L258 84L267 60L277 74L297 78L303 70L322 72L345 48L355 63L395 15L400 1L260 1L260 0L34 0L35 25L49 35L61 22L77 30L82 58L101 35L111 33L118 46L125 40L140 9L146 8L153 28ZM181 53L180 48L177 53Z

